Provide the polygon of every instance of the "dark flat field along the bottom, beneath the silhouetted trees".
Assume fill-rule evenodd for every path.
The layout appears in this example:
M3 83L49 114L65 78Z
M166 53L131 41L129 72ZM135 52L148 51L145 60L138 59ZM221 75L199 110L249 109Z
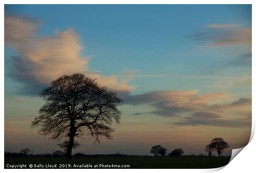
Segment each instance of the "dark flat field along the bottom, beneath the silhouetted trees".
M86 168L92 165L92 168L118 168L115 165L130 165L128 168L218 168L228 164L230 157L149 157L149 156L126 156L126 157L74 157L73 159L65 159L62 157L46 157L46 158L21 158L6 157L5 168L7 164L18 165L25 164L29 168L29 164L44 165L44 168L50 164L60 168L59 164L64 164L64 168L74 168L74 164L81 165ZM70 164L70 165L68 165ZM109 167L100 167L100 164L109 165ZM98 167L94 167L98 165ZM113 167L112 167L113 165ZM40 167L42 168L42 167ZM48 166L49 168L49 166ZM127 168L127 167L126 167Z

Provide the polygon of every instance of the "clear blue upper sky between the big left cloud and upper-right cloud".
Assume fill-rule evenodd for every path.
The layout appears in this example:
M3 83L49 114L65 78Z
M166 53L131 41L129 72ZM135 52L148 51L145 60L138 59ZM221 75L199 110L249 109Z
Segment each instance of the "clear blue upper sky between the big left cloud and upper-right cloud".
M7 5L5 14L39 19L42 22L39 35L53 36L56 29L74 28L86 47L82 54L94 56L90 69L103 75L119 74L123 68L139 69L144 74L223 75L224 70L209 70L227 61L218 58L223 52L198 48L204 43L186 36L207 30L201 26L209 23L251 27L250 8L250 5Z

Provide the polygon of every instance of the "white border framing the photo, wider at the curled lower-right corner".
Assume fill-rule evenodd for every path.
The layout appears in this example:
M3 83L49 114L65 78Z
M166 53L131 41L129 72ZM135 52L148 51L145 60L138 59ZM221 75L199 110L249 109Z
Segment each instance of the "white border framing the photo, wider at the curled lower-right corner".
M255 10L256 7L254 6L256 3L256 1L253 0L157 0L157 1L153 1L153 0L129 0L129 1L118 1L118 0L2 0L2 6L1 6L1 23L2 23L2 27L1 27L1 33L2 35L4 35L4 27L3 27L3 23L4 23L4 4L252 4L252 19L256 19L255 17ZM255 22L254 20L252 20L252 28L255 28ZM254 30L252 32L252 54L254 55L254 38L256 38L256 35L254 33ZM3 54L4 54L4 38L2 37L2 47L0 48L1 52L2 52L2 57L1 57L1 63L0 63L0 71L2 73L2 75L0 75L0 80L4 81L4 58L3 58ZM252 67L255 67L255 61L254 58L252 58ZM254 73L255 70L254 68L252 68L252 131L251 131L251 138L250 138L250 143L249 145L245 146L244 149L239 153L238 157L235 157L227 166L223 166L221 168L214 168L214 169L161 169L158 171L161 172L194 172L194 173L200 173L200 172L214 172L214 171L219 171L223 172L223 173L229 173L229 172L254 172L255 171L255 162L254 162L254 157L256 156L256 150L254 149L254 146L256 146L256 140L255 138L253 138L254 136L254 131L255 131L255 92L254 92L254 86L255 86L255 77L254 77ZM4 85L2 82L2 85L0 86L1 90L0 90L0 96L1 96L1 112L2 112L2 121L1 121L1 137L2 139L4 139ZM1 168L4 169L4 143L2 142L1 144L2 147L2 157L1 158ZM224 168L225 167L225 168ZM223 169L224 168L224 169ZM96 171L96 172L102 172L104 171L105 173L119 173L120 171L122 172L130 172L130 171L135 171L135 172L139 172L141 169L94 169L94 170L90 170L92 172ZM28 173L32 173L35 170L33 169L24 169L24 170L14 170L14 169L5 169L4 171L6 172L28 172ZM40 169L40 170L36 170L37 172L45 172L45 170ZM48 169L47 171L56 171L56 170L51 170ZM59 171L59 170L58 170ZM62 172L70 172L71 170L68 169L62 169ZM86 170L78 170L78 171L86 171ZM155 172L156 170L154 169L143 169L141 171L147 171L147 172Z

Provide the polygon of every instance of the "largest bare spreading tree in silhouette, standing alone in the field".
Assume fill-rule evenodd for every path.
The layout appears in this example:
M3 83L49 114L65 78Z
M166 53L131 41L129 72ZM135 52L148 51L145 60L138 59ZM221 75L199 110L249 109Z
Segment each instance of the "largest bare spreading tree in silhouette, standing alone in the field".
M100 143L102 137L112 139L113 120L120 123L121 112L116 106L121 99L95 80L81 73L63 75L40 92L45 105L31 127L40 126L39 134L55 140L69 138L67 158L72 158L75 137L94 138Z

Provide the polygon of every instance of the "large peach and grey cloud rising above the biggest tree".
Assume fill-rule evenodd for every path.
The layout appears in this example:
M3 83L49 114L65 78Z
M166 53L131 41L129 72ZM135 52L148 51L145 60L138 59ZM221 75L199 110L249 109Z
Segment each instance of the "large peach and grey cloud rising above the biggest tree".
M40 22L36 19L5 16L5 46L20 54L12 57L10 75L28 85L25 86L25 91L28 91L26 87L31 87L32 91L40 91L41 87L60 75L74 72L97 78L101 85L122 94L127 94L134 88L127 84L128 80L91 72L88 68L90 56L81 54L84 47L73 28L56 30L53 37L47 37L38 36L39 26Z

